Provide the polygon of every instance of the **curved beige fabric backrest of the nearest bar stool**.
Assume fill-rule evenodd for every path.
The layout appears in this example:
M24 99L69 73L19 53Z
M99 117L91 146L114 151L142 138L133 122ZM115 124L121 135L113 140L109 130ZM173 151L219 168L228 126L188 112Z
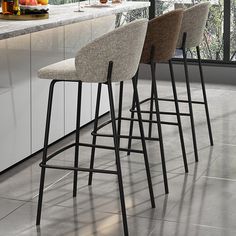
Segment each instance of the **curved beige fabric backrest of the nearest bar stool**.
M132 79L138 69L147 23L147 19L135 20L81 48L75 58L78 79L106 82L109 61L113 62L112 82Z

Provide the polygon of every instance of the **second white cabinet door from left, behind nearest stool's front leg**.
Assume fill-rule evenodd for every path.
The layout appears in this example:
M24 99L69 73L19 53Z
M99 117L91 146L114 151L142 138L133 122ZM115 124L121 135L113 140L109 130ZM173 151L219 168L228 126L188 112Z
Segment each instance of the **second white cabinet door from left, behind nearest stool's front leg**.
M37 71L64 59L64 28L31 34L32 150L43 147L50 80L39 79ZM64 82L55 85L50 142L64 136Z

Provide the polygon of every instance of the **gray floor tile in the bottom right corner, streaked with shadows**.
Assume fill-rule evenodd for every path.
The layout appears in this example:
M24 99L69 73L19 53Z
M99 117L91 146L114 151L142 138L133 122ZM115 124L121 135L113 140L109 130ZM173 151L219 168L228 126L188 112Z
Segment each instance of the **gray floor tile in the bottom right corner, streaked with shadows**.
M236 230L235 183L201 177L166 219Z

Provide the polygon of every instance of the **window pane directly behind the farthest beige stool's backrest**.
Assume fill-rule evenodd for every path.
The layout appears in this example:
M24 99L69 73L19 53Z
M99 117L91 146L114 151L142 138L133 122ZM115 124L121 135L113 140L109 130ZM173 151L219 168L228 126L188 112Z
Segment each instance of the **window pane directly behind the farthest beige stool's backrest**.
M236 2L236 0L234 0ZM177 8L187 8L207 0L156 0L156 15L161 15ZM209 0L212 6L201 46L202 59L223 60L223 0ZM189 58L196 58L194 49L189 50Z

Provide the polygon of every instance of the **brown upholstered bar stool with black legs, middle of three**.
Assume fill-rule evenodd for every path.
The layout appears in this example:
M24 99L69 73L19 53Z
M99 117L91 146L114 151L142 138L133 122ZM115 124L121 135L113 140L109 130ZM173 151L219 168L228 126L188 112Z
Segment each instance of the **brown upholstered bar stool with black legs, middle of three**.
M177 98L176 85L175 85L175 79L174 79L174 73L173 73L173 67L172 67L172 61L171 61L173 54L175 52L175 49L176 49L182 17L183 17L183 10L174 10L149 21L147 35L146 35L146 39L144 43L144 49L143 49L141 60L140 60L140 63L150 65L151 76L152 76L151 96L147 99L144 99L143 101L140 101L140 104L150 101L150 110L141 110L141 113L149 114L149 119L143 120L144 122L149 123L149 132L148 132L148 137L146 137L146 139L154 140L151 137L152 123L157 123L158 137L159 137L159 144L160 144L160 151L161 151L161 160L162 160L163 178L164 178L164 185L165 185L166 193L168 193L168 182L167 182L167 173L166 173L166 165L165 165L164 144L163 144L163 138L162 138L162 127L161 127L162 124L178 126L185 172L188 172L184 137L183 137L182 124L181 124L180 113L179 113L179 105L177 102L178 98ZM165 122L165 121L161 121L161 118L160 118L160 114L163 114L163 112L159 111L159 102L158 102L159 98L158 98L158 93L157 93L156 75L155 75L156 63L159 63L159 62L169 63L172 90L173 90L174 101L175 101L175 110L176 110L175 115L177 118L177 122ZM153 111L154 104L155 104L155 111ZM131 122L130 122L130 131L129 131L130 138L129 138L128 148L131 147L132 133L133 133L133 117L134 117L135 112L137 112L137 109L135 108L135 102L133 98L133 104L131 108ZM153 114L155 114L156 116L155 120L153 120ZM130 153L128 152L128 155L129 154Z

